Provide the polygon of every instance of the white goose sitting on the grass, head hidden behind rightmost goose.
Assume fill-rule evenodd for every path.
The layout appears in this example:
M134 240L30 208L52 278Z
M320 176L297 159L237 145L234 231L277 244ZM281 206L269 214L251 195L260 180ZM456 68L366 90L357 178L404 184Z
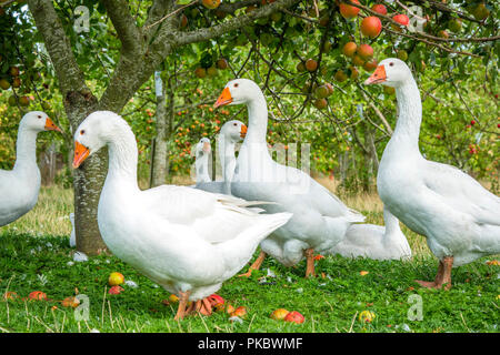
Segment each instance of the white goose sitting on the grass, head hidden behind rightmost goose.
M346 257L368 257L373 260L407 260L411 257L410 244L401 232L399 220L383 209L386 226L353 224L346 237L330 253Z

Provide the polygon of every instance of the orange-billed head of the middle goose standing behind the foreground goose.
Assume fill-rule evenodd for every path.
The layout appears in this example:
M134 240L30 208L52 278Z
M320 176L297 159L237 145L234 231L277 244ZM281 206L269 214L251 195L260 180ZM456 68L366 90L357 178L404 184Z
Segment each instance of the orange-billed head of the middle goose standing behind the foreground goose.
M259 85L249 79L234 79L226 84L213 108L227 104L244 104L262 95Z

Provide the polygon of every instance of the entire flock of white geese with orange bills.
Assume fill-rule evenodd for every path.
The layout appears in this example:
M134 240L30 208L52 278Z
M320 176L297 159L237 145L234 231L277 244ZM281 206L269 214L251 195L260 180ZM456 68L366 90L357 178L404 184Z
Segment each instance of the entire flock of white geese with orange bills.
M426 236L439 260L436 280L417 282L449 288L453 266L500 253L500 199L460 170L422 156L420 92L404 62L381 61L364 83L394 88L398 101L396 130L377 176L384 227L362 224L362 214L308 174L272 160L266 141L266 98L253 81L237 79L226 85L214 106L246 104L248 126L229 121L221 129L221 181L210 180L211 146L202 139L197 146L196 185L141 191L136 138L127 122L113 112L98 111L79 125L73 168L103 146L109 151L98 209L104 243L179 296L176 318L193 312L211 314L207 297L241 271L259 245L259 257L243 275L259 268L267 255L286 266L306 257L306 276L314 275L313 253L408 258L411 250L399 221ZM29 112L20 122L14 168L0 171L0 225L16 221L37 202L36 139L43 130L59 131L43 112ZM236 145L243 138L237 158Z

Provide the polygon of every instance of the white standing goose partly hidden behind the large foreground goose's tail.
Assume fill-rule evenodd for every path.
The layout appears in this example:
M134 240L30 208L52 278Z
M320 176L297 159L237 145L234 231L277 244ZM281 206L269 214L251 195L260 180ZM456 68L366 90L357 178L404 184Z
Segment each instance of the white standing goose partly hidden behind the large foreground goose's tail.
M237 160L231 192L242 199L272 201L268 212L292 212L292 219L261 243L262 253L247 274L259 268L266 254L286 266L307 257L306 276L314 275L313 251L330 250L347 229L364 217L347 207L311 176L274 162L266 142L268 108L260 88L251 80L237 79L223 89L214 106L246 104L248 132Z

